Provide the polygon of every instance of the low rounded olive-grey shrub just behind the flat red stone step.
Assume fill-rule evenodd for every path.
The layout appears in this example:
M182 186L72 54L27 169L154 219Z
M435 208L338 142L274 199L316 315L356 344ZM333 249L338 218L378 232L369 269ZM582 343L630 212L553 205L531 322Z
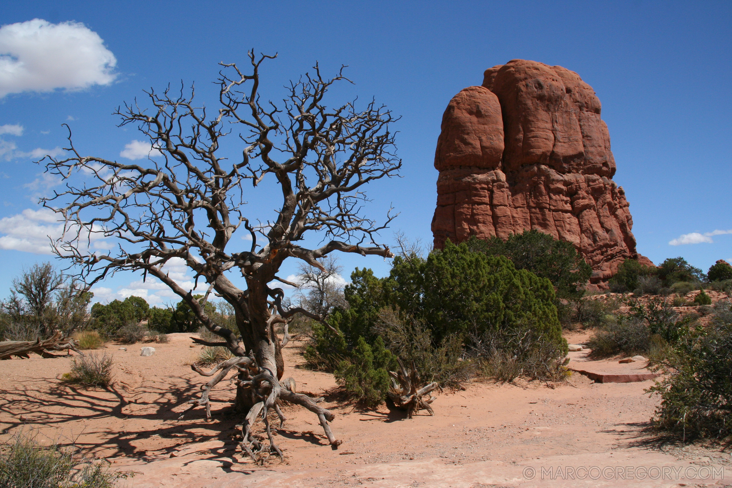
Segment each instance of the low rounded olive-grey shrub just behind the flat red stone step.
M620 353L627 356L645 354L650 345L648 326L638 318L619 318L615 322L605 323L587 342L587 347L591 349L590 355L594 358Z

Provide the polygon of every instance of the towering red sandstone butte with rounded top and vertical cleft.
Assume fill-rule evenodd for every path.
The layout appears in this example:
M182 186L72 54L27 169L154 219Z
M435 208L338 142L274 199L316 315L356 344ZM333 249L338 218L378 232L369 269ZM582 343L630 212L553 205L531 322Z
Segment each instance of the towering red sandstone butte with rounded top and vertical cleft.
M593 288L638 255L600 100L560 66L513 59L450 100L435 152L434 246L536 229L571 242Z

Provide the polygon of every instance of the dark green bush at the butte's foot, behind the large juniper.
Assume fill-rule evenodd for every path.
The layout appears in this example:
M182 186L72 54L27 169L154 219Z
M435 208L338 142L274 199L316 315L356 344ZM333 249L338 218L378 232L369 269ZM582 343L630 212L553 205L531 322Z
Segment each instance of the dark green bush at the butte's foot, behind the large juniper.
M487 240L472 237L468 249L489 256L506 256L515 269L526 269L541 278L548 278L556 296L567 299L581 295L581 288L592 275L592 268L567 241L554 239L538 230L512 234L506 241L498 237Z

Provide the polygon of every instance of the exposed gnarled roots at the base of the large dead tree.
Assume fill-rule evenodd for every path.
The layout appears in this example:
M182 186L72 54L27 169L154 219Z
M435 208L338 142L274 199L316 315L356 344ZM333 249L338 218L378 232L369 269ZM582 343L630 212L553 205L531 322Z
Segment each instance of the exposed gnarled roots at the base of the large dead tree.
M202 376L214 376L214 374L215 376L208 383L201 386L201 398L191 399L186 402L190 404L190 407L184 410L178 419L180 420L183 418L185 413L189 410L201 406L206 407L206 418L210 419L211 405L209 402L209 393L211 388L213 388L217 383L220 383L220 381L223 380L232 369L236 369L239 374L231 378L230 383L236 383L237 386L250 390L253 399L256 401L253 407L250 408L247 416L244 418L244 422L242 423L242 442L240 443L242 451L246 452L254 462L264 462L264 460L271 454L277 454L280 459L284 459L282 451L275 444L275 440L272 435L272 427L269 424L269 418L267 415L269 410L275 410L277 416L280 418L279 428L282 429L287 418L285 418L279 405L277 405L280 399L285 400L286 402L302 405L307 408L307 410L315 413L315 415L318 416L318 420L323 427L326 437L328 438L328 442L332 446L340 446L341 441L335 438L328 425L328 422L332 422L335 416L329 410L316 405L314 399L307 395L296 393L295 381L292 378L283 380L283 382L280 383L277 381L277 377L273 375L268 368L258 367L254 359L240 356L223 361L209 372L204 372L203 369L195 364L191 366L191 369ZM260 416L264 421L267 438L269 438L269 448L265 448L265 446L252 435L252 427ZM267 452L266 456L258 459L256 454L265 450Z

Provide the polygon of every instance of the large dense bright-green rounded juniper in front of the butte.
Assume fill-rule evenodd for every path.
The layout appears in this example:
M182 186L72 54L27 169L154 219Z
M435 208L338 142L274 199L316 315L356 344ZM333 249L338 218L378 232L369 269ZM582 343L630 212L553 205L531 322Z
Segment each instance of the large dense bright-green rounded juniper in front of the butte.
M447 241L426 260L397 256L384 288L387 299L423 320L436 341L523 323L558 344L564 340L549 279L516 269L504 256L471 252L466 243Z

